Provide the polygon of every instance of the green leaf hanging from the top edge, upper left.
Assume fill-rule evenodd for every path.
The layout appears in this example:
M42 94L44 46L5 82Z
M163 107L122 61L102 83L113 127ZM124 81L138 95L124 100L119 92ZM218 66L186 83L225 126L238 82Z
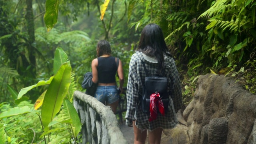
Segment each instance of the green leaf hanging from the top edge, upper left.
M44 14L44 23L46 24L48 32L57 23L59 4L60 0L46 0L46 12Z

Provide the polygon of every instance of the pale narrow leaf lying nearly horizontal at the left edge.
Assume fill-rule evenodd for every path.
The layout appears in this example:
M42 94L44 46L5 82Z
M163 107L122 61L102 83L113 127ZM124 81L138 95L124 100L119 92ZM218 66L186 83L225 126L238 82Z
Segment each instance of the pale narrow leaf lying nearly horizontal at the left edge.
M15 108L10 108L7 111L4 111L0 114L0 119L2 118L7 118L10 116L16 116L19 114L26 114L26 113L37 113L33 109L29 108L28 106L23 106L23 107L15 107Z

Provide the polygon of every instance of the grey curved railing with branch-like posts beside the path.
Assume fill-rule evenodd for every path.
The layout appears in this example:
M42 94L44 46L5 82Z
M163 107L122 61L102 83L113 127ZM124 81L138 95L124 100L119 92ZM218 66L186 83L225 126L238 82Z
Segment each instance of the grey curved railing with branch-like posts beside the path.
M82 123L82 144L127 144L110 106L75 91L74 107Z

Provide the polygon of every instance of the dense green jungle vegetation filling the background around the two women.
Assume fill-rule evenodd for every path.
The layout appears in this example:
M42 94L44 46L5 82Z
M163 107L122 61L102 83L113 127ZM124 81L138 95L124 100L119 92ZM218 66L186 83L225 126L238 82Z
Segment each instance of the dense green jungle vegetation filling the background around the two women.
M149 23L160 25L176 60L184 106L198 76L209 72L256 93L255 10L254 0L0 0L0 143L79 142L76 116L67 111L72 92L84 91L98 40L110 42L127 82L130 56ZM60 76L65 84L56 82ZM68 91L49 113L56 85Z

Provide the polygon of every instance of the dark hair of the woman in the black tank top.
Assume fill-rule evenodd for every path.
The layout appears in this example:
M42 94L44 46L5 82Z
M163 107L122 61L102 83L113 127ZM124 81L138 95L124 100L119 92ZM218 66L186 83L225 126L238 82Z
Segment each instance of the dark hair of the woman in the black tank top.
M98 54L97 54L98 57L104 54L111 55L111 48L110 48L109 42L106 40L100 40L97 44L97 51L98 51Z

